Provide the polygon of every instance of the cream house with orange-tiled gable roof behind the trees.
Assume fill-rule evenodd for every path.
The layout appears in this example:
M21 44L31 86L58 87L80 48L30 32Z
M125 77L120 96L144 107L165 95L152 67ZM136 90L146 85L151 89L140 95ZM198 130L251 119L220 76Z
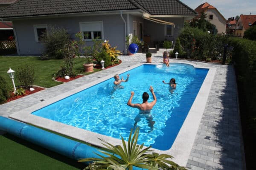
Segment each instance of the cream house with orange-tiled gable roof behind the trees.
M226 32L226 19L221 15L217 8L209 3L203 3L195 8L195 11L198 13L198 17L195 17L195 19L200 18L201 12L203 11L204 14L206 14L205 19L216 26L218 34L224 34Z

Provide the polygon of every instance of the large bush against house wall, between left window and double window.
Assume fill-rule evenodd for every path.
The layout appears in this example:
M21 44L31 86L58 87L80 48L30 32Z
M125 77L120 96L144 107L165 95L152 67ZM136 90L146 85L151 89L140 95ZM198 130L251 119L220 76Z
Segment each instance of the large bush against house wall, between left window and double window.
M70 41L70 35L64 28L55 28L49 26L47 33L42 35L42 42L44 42L44 54L41 59L63 59L64 46Z

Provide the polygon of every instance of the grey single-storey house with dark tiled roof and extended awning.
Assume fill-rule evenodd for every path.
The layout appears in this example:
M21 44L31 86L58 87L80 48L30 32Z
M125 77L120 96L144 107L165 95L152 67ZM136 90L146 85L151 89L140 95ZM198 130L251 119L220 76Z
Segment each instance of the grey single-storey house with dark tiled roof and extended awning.
M87 45L99 36L126 53L125 37L145 37L149 45L176 40L185 20L197 13L179 0L19 0L0 12L12 20L17 52L42 54L40 36L49 25L66 28L74 39L81 31Z

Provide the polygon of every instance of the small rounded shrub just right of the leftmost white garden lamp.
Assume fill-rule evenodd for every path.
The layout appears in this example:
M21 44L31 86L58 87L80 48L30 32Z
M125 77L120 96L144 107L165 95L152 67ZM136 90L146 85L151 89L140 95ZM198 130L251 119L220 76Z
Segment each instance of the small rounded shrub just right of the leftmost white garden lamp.
M32 65L24 65L17 69L16 77L24 88L29 89L35 81L34 74L35 71Z

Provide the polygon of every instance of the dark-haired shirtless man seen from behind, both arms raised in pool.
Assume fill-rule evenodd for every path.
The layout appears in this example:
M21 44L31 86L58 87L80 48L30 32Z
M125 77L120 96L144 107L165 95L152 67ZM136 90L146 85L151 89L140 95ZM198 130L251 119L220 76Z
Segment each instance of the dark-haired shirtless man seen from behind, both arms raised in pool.
M131 103L131 100L134 96L134 91L131 91L131 97L128 100L127 105L132 107L132 108L138 108L140 110L139 114L134 119L135 120L134 127L137 126L137 122L139 122L142 117L145 117L148 121L148 126L151 129L150 131L152 131L155 122L152 121L153 117L152 117L150 112L151 112L151 109L153 108L153 106L156 104L157 98L154 94L154 89L153 89L152 86L150 86L149 90L151 91L151 94L153 96L153 99L154 99L153 102L151 102L151 103L148 102L149 95L148 95L147 92L144 92L143 95L142 95L142 98L143 98L143 103L142 104L140 104L140 103L136 103L136 104Z

